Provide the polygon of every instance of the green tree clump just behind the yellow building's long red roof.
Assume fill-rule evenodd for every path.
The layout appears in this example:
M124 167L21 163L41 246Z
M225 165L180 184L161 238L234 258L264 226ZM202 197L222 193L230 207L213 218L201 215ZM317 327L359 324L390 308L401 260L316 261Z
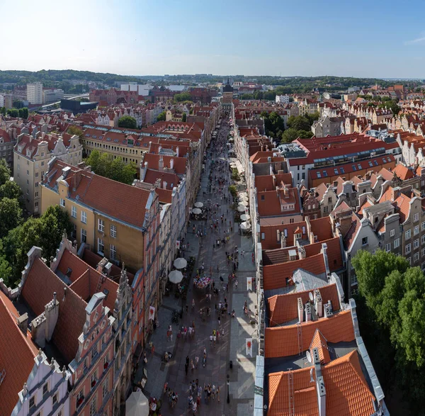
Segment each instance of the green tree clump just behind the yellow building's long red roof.
M101 153L98 150L90 153L86 164L89 164L93 172L98 175L129 185L132 184L137 172L134 162L125 164L122 157L114 158L112 154Z

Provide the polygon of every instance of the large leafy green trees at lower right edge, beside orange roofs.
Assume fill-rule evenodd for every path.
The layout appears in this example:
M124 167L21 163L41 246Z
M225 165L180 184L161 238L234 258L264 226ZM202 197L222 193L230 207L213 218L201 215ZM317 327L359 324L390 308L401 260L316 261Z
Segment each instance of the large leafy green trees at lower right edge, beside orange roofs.
M424 273L404 257L382 250L375 255L358 252L352 263L360 330L378 378L387 388L397 383L414 414L423 415Z

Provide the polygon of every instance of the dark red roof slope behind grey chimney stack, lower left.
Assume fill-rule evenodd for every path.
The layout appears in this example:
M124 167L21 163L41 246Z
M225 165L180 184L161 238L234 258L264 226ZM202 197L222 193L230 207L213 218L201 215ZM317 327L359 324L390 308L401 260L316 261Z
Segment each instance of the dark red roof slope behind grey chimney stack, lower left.
M59 317L53 332L53 341L68 362L72 361L79 347L78 337L86 322L87 303L71 288L64 296L64 282L47 267L40 258L34 260L23 285L22 297L35 315L45 311L45 305L57 293Z

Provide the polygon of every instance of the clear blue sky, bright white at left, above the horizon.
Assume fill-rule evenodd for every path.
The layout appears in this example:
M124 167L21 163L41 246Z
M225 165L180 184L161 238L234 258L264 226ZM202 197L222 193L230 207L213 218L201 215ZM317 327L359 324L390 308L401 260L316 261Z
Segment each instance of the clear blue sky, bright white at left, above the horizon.
M0 69L425 78L421 0L0 0Z

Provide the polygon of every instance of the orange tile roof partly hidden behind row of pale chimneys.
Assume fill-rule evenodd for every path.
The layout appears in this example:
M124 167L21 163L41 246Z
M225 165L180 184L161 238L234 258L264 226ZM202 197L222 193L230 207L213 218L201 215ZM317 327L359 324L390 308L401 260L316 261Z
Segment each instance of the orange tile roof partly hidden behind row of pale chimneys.
M333 283L328 286L323 286L318 289L320 296L322 296L322 305L331 301L333 310L340 310L341 304L339 302L338 291L336 284ZM309 293L312 291L300 291L286 293L285 295L275 295L268 298L268 311L270 327L284 324L290 320L297 319L298 317L298 298L301 298L302 304L305 305L309 301Z

